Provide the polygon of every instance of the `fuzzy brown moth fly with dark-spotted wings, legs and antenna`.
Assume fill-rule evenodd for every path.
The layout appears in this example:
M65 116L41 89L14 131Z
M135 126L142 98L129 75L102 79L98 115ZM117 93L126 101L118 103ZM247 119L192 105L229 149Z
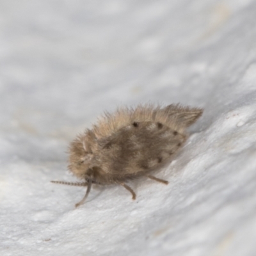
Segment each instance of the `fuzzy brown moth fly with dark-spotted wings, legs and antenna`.
M202 115L202 109L179 104L120 108L105 113L98 124L77 136L70 144L69 170L87 186L83 204L92 184L125 184L141 176L168 184L151 175L170 162L188 138L186 129ZM54 182L54 181L53 181ZM56 182L68 184L68 182Z

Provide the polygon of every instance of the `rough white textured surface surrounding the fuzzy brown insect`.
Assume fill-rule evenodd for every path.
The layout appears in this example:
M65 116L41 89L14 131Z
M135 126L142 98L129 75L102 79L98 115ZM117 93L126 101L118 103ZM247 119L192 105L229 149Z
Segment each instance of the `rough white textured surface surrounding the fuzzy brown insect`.
M1 1L1 255L256 255L256 2ZM205 108L177 160L124 188L51 184L116 106Z

